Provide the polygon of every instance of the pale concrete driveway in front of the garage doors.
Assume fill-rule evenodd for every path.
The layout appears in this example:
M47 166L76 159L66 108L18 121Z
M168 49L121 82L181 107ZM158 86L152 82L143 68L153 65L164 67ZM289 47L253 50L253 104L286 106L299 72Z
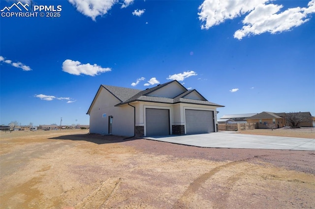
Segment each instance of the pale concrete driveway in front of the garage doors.
M196 147L315 151L315 139L236 134L229 131L145 138Z

